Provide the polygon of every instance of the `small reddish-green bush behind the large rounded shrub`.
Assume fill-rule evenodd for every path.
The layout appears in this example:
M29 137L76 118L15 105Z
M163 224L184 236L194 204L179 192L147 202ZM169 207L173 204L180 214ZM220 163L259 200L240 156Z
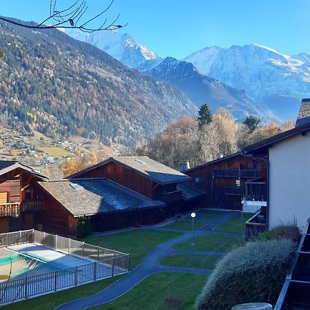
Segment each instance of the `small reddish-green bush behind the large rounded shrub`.
M280 225L258 236L258 241L288 239L298 243L300 231L296 225Z

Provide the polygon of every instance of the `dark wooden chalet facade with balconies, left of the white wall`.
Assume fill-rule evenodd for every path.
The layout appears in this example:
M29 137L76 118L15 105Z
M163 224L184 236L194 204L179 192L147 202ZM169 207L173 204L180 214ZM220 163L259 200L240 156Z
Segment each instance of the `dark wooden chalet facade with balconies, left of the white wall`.
M240 153L211 161L185 172L191 184L206 192L200 206L218 209L242 209L246 183L267 179L267 163Z

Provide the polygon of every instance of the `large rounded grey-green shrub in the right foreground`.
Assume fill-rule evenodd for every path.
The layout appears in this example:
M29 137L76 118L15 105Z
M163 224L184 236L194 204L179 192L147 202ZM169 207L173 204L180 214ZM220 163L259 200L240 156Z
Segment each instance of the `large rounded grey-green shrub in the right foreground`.
M196 309L226 310L246 302L276 304L297 245L291 240L249 242L218 262Z

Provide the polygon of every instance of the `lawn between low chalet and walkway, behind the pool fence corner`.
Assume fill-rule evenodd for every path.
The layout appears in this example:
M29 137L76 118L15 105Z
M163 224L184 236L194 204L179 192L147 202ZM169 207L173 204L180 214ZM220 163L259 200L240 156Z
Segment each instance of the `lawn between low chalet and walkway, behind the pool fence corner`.
M130 269L134 269L144 256L159 243L182 235L174 231L124 231L117 234L110 234L98 237L85 238L83 241L91 245L100 245L107 249L116 249L123 253L130 254Z

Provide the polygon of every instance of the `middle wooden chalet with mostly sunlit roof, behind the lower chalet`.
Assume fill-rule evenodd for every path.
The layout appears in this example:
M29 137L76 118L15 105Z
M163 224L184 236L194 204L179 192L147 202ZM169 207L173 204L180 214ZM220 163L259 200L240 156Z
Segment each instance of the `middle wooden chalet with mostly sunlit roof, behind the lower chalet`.
M169 206L169 216L184 211L185 201L195 199L204 192L180 185L191 180L190 176L167 167L147 156L118 156L72 174L68 178L105 177L134 192ZM168 216L168 215L167 215Z

